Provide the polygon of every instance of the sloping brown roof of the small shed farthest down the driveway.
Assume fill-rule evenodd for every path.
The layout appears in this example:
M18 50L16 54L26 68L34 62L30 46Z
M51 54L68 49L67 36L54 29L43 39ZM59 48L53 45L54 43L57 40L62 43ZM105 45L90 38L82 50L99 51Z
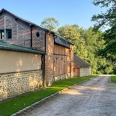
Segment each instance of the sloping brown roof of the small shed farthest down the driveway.
M74 63L78 65L80 68L91 66L89 63L85 62L83 59L81 59L80 57L76 55L74 55Z

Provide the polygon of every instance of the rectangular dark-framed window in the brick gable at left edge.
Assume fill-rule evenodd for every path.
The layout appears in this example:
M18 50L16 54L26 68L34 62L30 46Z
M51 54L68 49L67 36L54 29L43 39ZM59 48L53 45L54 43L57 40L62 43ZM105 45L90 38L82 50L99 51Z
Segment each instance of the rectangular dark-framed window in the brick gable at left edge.
M5 31L6 31L6 36L5 36ZM11 29L0 29L0 39L4 39L4 38L5 39L12 38L12 30Z

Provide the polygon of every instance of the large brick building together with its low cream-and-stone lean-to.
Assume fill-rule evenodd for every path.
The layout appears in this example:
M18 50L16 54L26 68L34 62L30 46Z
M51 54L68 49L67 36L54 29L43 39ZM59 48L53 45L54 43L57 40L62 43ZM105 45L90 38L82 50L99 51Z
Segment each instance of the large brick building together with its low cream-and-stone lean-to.
M0 10L0 100L73 77L73 46L54 32Z

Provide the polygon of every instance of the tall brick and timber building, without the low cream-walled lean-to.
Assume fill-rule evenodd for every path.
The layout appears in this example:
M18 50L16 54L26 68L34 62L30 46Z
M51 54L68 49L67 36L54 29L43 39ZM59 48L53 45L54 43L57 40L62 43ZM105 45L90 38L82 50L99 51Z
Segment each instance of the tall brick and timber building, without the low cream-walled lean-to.
M73 74L72 43L5 9L0 11L0 41L44 52L42 70L47 86Z

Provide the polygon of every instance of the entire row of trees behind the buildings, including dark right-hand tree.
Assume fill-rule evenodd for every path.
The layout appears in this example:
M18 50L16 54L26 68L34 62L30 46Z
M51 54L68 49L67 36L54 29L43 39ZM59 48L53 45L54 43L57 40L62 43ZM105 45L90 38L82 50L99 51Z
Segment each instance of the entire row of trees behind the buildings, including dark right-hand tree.
M105 13L93 15L93 27L84 29L77 24L64 25L57 29L59 21L46 18L41 27L74 43L74 54L92 65L93 74L116 73L116 0L94 0L93 4L107 7ZM105 27L106 26L106 27ZM108 28L101 31L102 28Z

